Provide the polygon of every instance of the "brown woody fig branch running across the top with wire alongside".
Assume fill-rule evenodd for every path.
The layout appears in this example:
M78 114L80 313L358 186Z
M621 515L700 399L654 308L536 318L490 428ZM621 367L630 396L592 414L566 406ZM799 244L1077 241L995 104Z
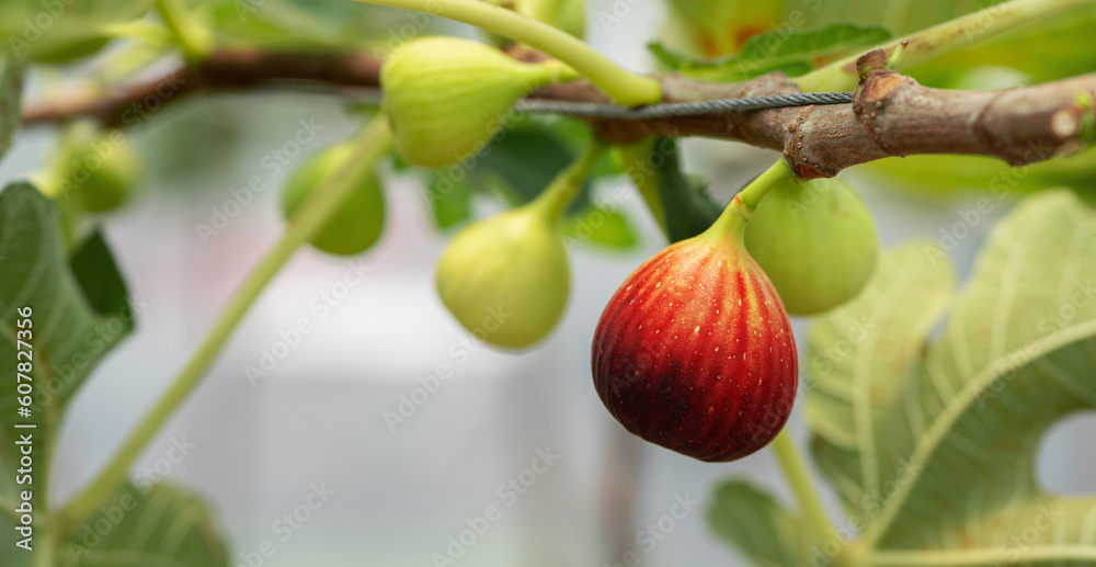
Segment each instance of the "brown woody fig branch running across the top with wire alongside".
M90 116L109 126L126 126L192 92L251 91L287 81L342 89L377 87L379 70L380 61L365 55L221 49L197 67L106 95L71 94L32 104L24 122ZM791 79L776 73L741 83L709 83L675 75L658 79L665 102L800 92ZM533 97L608 102L585 81L546 88ZM1048 159L1082 146L1083 124L1092 117L1092 110L1080 102L1085 97L1096 99L1096 73L1003 91L958 91L923 87L895 71L874 70L860 82L853 104L590 122L609 143L658 134L722 138L779 150L799 175L810 179L886 157L917 154L991 156L1014 166Z

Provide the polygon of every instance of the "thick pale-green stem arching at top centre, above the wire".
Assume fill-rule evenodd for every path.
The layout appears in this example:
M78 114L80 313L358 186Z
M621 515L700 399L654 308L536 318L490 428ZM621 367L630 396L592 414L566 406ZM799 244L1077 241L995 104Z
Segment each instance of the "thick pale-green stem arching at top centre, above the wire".
M562 30L499 5L479 0L355 1L439 15L528 44L570 65L614 101L627 106L654 104L662 100L659 81L624 69Z

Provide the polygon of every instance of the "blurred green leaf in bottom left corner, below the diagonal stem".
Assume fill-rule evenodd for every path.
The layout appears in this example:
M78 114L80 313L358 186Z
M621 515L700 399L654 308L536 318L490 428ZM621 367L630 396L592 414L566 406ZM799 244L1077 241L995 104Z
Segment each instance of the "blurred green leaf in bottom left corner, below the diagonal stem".
M221 567L224 540L199 498L169 483L126 484L56 555L59 565Z

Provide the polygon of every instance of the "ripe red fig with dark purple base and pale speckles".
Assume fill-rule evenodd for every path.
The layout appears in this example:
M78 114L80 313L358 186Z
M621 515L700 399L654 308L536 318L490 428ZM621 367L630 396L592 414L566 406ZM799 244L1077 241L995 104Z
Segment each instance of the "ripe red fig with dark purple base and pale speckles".
M798 361L780 298L743 243L740 197L639 267L605 307L594 386L630 432L701 461L742 458L791 412Z

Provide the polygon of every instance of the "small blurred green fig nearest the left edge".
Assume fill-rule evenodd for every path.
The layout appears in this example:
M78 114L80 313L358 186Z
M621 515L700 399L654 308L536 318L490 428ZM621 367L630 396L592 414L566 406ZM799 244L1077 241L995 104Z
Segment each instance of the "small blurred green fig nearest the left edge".
M79 197L84 211L105 213L125 201L141 175L140 159L121 131L101 133L81 124L67 136L57 166L62 194Z

